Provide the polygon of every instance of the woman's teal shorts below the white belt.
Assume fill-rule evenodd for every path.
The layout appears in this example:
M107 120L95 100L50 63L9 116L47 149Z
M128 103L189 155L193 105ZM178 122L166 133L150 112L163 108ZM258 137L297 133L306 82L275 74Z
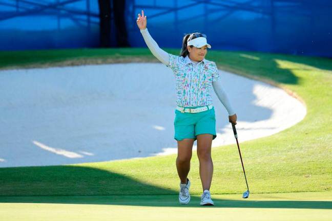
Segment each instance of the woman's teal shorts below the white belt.
M202 106L190 108L197 107ZM174 131L174 139L177 141L185 138L197 140L196 136L200 134L211 134L214 140L217 137L214 107L199 113L181 113L175 109Z

